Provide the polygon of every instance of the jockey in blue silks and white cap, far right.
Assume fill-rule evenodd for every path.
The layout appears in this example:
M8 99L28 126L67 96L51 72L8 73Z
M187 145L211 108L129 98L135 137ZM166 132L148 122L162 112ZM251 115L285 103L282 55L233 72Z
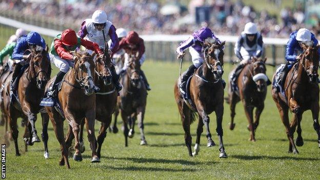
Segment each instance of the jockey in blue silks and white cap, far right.
M303 52L301 44L313 44L316 46L318 44L317 39L314 34L311 33L308 29L301 28L298 31L294 31L290 34L289 41L286 48L286 64L282 69L282 73L278 82L283 86L287 73L289 72L291 66L296 62L297 59L301 58L300 53ZM318 49L320 54L320 49Z

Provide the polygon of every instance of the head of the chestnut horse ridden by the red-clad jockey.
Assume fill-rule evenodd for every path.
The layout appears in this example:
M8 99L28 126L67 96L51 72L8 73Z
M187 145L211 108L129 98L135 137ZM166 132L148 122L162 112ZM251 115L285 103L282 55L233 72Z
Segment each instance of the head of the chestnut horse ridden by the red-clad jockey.
M74 62L74 76L75 80L81 87L85 88L85 94L91 95L94 92L94 62L93 57L95 54L90 55L87 51L76 51L77 56Z

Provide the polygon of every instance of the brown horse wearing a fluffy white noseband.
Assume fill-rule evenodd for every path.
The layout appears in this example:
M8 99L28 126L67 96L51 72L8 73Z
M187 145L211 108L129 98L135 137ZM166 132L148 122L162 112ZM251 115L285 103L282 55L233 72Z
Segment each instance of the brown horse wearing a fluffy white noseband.
M257 59L255 57L251 58L252 62L247 64L237 78L238 92L231 90L231 80L229 75L229 88L228 88L228 98L227 103L230 104L231 112L231 123L230 129L233 130L235 124L235 106L239 101L242 101L245 113L248 118L250 131L249 141L255 141L254 133L259 125L260 115L264 109L264 101L267 94L267 81L268 77L266 75L266 60ZM234 70L233 70L234 71ZM230 72L233 73L233 71ZM253 109L255 109L255 121L253 122Z

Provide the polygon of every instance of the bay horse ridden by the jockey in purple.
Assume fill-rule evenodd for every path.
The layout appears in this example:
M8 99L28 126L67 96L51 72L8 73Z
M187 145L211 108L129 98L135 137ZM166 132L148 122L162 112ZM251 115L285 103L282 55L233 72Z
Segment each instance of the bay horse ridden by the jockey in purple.
M182 125L185 131L185 142L189 155L197 155L200 150L200 137L203 132L203 125L207 130L207 147L215 146L209 130L209 114L213 111L216 115L216 132L219 137L219 157L227 157L223 145L222 118L224 113L224 87L222 83L223 75L223 56L222 47L225 42L218 44L212 38L206 39L203 46L204 63L195 71L195 75L190 80L190 97L193 107L189 107L184 101L178 84L174 86L174 96L179 113L182 119ZM195 113L198 114L199 122L196 131L196 142L194 153L191 152L192 137L190 134L190 124L195 121Z

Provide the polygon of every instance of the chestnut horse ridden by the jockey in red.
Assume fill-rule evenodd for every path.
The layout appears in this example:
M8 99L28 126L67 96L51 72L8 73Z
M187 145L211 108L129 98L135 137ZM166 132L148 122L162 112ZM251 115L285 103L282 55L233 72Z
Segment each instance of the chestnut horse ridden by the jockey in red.
M66 139L64 137L63 122L64 118L54 107L45 107L48 112L55 135L61 145L62 157L59 165L66 164L70 168L68 161L68 149L75 138L75 153L73 159L82 161L82 155L79 150L79 126L85 121L90 147L92 149L92 163L100 162L96 153L96 138L94 135L95 121L95 94L94 94L94 62L93 57L86 51L75 52L77 56L74 62L74 68L70 69L65 75L61 91L58 92L57 99L62 107L65 118L69 124ZM51 78L46 89L54 82Z

